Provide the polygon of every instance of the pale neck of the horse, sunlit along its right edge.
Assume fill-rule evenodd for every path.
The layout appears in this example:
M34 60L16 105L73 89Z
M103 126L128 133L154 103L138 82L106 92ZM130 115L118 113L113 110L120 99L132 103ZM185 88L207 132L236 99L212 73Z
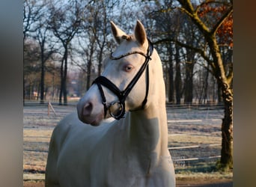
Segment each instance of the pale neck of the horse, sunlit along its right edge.
M128 113L129 118L129 146L141 150L144 153L157 153L158 156L166 156L168 153L168 128L165 109L165 84L162 79L162 66L159 61L159 77L150 77L150 94L148 104L144 110ZM151 69L152 70L152 69ZM157 84L153 84L157 81Z

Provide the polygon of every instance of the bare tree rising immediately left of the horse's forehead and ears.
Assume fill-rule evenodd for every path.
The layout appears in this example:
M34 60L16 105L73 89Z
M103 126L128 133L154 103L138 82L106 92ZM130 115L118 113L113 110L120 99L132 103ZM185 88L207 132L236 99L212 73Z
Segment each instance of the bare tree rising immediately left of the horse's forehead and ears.
M79 54L84 64L78 64L86 74L86 90L91 86L93 77L100 76L103 69L103 56L112 50L109 40L109 12L114 1L92 1L87 8L87 21L82 24L79 33ZM106 49L106 46L108 48Z

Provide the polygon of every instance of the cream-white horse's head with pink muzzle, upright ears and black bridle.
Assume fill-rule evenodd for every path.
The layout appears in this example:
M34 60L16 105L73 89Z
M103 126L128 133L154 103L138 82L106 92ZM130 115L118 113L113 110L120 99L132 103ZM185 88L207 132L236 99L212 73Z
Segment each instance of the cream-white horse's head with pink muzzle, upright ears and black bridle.
M102 76L94 80L77 104L79 120L93 126L99 125L104 118L119 120L126 111L147 106L152 43L140 21L132 35L126 34L114 22L111 27L118 47L105 59Z

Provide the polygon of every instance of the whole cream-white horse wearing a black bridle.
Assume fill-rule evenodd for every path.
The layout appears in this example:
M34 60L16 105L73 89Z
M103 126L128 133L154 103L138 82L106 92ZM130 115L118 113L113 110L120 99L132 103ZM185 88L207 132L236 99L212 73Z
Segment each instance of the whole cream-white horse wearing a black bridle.
M134 35L111 25L118 48L80 99L78 117L52 132L46 186L175 186L159 55L141 22Z

